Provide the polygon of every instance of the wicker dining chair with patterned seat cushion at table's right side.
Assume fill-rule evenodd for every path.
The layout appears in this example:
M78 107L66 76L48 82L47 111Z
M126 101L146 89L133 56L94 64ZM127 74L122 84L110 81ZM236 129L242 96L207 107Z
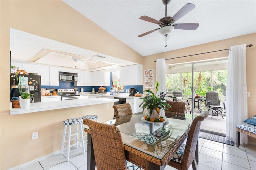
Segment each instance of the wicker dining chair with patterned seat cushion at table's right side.
M168 163L169 166L172 166L178 170L188 170L189 166L192 164L193 170L196 170L195 158L198 134L202 121L204 121L208 115L209 111L203 111L193 120L188 132L186 143L182 143L180 148L178 148Z

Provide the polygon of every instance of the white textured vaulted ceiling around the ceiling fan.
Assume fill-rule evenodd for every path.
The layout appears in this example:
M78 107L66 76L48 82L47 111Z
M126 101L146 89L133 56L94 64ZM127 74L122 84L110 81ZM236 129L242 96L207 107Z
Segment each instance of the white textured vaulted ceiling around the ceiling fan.
M143 56L256 32L255 0L171 0L167 16L192 3L196 8L175 23L199 23L199 27L194 31L174 29L167 47L157 31L138 38L159 28L139 18L144 15L156 20L163 18L162 0L63 1Z

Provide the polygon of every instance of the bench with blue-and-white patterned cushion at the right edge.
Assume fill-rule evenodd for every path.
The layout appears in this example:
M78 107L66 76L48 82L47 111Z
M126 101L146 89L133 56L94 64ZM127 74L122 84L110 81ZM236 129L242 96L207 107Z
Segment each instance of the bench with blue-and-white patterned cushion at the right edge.
M236 126L236 147L240 146L240 132L248 136L256 138L256 116L246 119L244 122L247 124L241 124Z

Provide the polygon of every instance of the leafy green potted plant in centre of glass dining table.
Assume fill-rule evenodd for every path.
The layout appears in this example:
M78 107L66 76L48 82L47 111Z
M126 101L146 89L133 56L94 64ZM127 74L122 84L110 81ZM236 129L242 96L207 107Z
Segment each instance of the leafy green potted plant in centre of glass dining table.
M158 92L159 81L157 80L156 83L156 93ZM160 110L164 111L165 107L171 108L171 106L166 103L166 94L161 92L159 95L154 94L151 90L145 90L148 94L145 97L141 97L143 102L140 104L139 107L142 106L142 109L148 109L148 117L153 118L152 120L156 120L160 118Z

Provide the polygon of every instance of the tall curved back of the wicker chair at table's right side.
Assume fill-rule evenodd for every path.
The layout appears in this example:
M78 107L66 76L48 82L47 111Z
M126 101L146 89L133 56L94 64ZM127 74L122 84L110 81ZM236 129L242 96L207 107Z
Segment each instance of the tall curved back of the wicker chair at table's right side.
M204 121L204 119L206 119L208 115L208 111L203 111L193 120L192 125L190 126L184 150L184 156L182 159L182 169L188 169L189 166L192 164L193 160L196 158L195 153L200 126L202 121Z

